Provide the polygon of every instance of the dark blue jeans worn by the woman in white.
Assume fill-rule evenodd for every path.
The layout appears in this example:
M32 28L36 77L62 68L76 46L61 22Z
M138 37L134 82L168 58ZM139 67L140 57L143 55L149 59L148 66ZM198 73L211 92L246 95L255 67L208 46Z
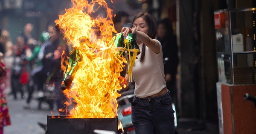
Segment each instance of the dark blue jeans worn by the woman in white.
M131 106L132 123L136 134L175 134L174 110L170 91L158 97L134 97Z

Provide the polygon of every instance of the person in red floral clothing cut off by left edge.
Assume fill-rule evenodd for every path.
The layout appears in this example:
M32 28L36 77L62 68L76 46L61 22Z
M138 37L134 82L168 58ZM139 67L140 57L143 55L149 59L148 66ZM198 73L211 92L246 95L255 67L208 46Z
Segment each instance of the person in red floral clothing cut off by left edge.
M3 62L3 53L0 52L0 134L3 134L3 127L11 125L9 108L7 105L5 84L3 83L3 76L6 75L5 64Z

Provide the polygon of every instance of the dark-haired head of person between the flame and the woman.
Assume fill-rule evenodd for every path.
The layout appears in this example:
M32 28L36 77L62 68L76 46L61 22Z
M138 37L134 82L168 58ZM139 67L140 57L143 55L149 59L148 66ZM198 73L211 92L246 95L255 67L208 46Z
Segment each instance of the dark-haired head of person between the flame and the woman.
M113 24L117 33L120 33L123 27L130 27L129 14L125 11L118 11L113 17ZM115 34L117 34L115 33Z

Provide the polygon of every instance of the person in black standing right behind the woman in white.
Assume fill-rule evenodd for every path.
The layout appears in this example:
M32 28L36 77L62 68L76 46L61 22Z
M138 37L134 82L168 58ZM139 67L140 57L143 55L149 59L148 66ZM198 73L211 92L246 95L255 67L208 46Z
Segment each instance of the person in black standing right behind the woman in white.
M178 47L176 36L173 34L172 24L169 23L167 18L160 20L158 23L157 40L162 44L166 86L170 91L172 102L177 106L176 74L179 62Z

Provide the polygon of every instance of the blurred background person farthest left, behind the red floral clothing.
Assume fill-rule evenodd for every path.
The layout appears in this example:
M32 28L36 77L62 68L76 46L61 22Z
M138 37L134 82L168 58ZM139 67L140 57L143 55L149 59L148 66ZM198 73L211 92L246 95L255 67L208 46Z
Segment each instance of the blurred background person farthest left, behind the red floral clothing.
M3 60L6 66L6 75L4 76L5 88L11 90L11 68L14 60L13 43L7 29L0 30L0 51L3 53Z

